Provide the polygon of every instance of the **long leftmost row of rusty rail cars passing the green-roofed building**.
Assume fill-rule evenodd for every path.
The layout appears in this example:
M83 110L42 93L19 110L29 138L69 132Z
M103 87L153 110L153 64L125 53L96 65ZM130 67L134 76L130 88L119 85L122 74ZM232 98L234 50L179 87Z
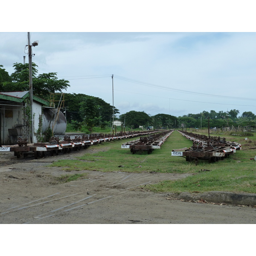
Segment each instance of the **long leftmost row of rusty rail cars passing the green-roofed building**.
M90 145L96 145L101 142L113 140L122 140L143 135L155 134L159 131L135 131L113 134L90 134L75 136L75 139L70 139L70 136L64 136L64 140L59 140L58 137L52 137L48 143L33 143L28 144L27 139L19 138L16 145L3 145L0 151L12 151L17 158L34 155L35 159L47 155L58 155L59 153L68 153L88 148Z

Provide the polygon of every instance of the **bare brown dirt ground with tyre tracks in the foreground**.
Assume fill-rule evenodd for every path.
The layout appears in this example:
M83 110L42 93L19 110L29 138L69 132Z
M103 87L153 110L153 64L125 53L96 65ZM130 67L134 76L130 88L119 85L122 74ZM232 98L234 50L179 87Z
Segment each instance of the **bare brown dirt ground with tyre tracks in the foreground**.
M84 171L83 179L58 183L77 172L49 164L82 154L18 160L0 153L0 224L256 224L253 207L184 202L141 187L187 174Z

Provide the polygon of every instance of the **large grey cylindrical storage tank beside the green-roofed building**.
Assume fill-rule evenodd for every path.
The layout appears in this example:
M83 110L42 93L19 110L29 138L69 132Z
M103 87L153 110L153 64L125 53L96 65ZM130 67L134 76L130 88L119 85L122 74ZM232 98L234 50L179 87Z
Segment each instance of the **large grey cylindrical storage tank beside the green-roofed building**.
M58 115L58 119L56 120ZM48 128L51 128L53 135L64 135L67 128L67 120L64 113L57 108L43 108L42 134L46 134ZM56 120L56 121L55 121Z

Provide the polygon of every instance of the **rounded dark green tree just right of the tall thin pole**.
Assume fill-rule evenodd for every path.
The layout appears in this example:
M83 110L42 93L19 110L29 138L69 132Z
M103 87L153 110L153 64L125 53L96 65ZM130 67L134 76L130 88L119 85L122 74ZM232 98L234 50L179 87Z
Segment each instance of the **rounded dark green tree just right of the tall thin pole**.
M129 111L119 116L121 122L125 122L125 126L132 126L134 129L140 125L148 126L152 123L152 118L144 111Z

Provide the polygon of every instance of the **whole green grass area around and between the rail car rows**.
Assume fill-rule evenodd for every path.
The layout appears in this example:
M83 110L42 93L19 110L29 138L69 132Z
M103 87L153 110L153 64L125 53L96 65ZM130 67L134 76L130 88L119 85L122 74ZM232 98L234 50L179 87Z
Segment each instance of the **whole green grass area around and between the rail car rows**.
M226 140L241 143L243 149L256 147L256 139L244 140L243 137L225 136ZM255 149L236 151L235 154L216 163L199 160L198 164L186 162L183 157L172 157L172 149L190 147L192 142L177 131L174 131L161 149L131 154L129 149L121 148L121 144L130 141L119 140L101 143L90 148L95 153L87 153L77 160L59 160L52 166L60 166L65 170L96 170L102 172L162 172L188 173L186 178L175 181L162 181L146 186L154 192L207 192L230 191L256 193L256 156ZM124 167L119 167L124 166ZM201 170L210 170L201 172ZM198 186L200 185L200 186Z

